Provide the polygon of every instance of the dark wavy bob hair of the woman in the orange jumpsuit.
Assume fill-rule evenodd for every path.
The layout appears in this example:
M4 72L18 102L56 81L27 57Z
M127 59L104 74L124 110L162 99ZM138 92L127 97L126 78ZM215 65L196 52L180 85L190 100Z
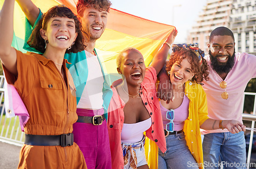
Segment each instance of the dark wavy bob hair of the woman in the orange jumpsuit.
M71 49L67 49L66 53L77 53L79 51L84 50L84 48L86 47L84 45L84 41L85 39L89 40L89 35L82 30L81 23L78 20L77 16L64 5L54 6L42 16L27 42L29 46L35 48L37 51L41 53L45 52L46 42L40 35L40 29L47 30L47 23L49 19L56 16L68 17L70 19L74 19L75 21L77 37L74 45L71 47Z

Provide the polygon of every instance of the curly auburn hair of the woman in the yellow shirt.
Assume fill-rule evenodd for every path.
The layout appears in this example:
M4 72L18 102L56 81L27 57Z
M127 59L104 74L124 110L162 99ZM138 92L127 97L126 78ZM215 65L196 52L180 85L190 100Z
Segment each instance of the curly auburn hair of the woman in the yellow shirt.
M186 57L188 57L188 62L191 64L192 73L195 73L191 81L195 80L199 84L203 81L203 79L208 80L209 65L207 64L207 61L202 58L203 63L200 66L199 58L197 57L197 55L192 50L187 50L184 48L181 48L180 50L173 52L170 55L170 60L167 61L166 64L166 72L169 72L176 62L180 64L181 61Z

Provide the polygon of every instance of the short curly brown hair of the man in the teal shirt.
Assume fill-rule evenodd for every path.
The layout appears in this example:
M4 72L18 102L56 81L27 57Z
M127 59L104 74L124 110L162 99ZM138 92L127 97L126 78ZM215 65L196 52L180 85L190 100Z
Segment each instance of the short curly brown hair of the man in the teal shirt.
M83 16L84 9L88 6L92 6L99 11L109 12L111 2L108 0L78 0L76 4L77 14L81 17Z

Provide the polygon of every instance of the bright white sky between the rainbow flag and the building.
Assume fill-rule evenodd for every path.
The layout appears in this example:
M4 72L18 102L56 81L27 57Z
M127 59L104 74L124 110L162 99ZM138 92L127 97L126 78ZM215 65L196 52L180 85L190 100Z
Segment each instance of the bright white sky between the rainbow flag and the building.
M174 43L186 43L186 36L206 6L207 0L111 0L111 8L145 19L173 25L178 30Z

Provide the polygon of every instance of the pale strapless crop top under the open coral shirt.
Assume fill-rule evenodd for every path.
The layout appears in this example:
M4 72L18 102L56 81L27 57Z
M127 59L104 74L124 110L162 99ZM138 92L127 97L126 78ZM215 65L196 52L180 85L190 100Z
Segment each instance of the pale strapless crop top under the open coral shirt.
M123 124L121 131L121 142L122 143L136 143L140 142L143 138L143 132L149 129L152 125L151 118L147 120L132 123L132 124Z

